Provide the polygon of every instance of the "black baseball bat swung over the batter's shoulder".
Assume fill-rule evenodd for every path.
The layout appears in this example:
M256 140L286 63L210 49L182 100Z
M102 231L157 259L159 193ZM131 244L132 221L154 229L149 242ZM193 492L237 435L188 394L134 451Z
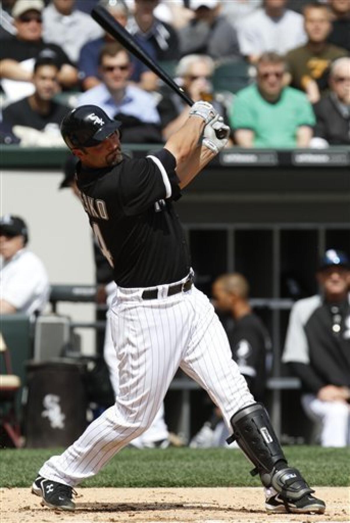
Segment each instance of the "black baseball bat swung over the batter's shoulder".
M181 89L181 87L173 81L171 76L169 76L168 73L164 71L164 69L162 69L162 67L160 67L157 62L155 62L153 58L138 45L133 36L112 17L107 9L101 5L97 5L92 9L91 16L105 31L112 35L115 40L118 40L118 42L120 42L127 51L136 56L136 58L141 60L141 62L143 62L148 67L148 69L159 76L159 78L161 78L165 84L167 84L176 94L178 94L186 102L186 104L189 106L194 104L194 101L188 95L186 95L183 89ZM218 132L217 136L220 138Z

